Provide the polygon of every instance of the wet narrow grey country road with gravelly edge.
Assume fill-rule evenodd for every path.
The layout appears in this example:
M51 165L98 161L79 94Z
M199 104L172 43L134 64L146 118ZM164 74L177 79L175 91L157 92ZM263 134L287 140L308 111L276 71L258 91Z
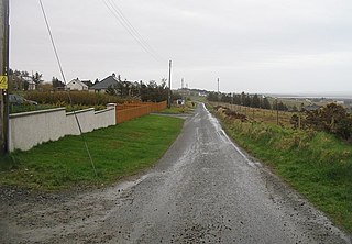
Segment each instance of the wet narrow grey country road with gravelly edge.
M0 203L0 243L351 243L241 152L204 104L139 178L7 202Z

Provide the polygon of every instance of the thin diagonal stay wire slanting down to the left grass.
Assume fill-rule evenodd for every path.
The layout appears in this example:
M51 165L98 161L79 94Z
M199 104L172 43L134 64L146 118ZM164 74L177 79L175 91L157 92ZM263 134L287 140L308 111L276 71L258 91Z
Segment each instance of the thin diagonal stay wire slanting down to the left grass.
M43 16L44 16L44 20L45 20L46 29L47 29L48 34L50 34L50 37L51 37L51 42L52 42L52 45L53 45L53 48L54 48L55 57L56 57L56 60L57 60L57 64L58 64L58 67L59 67L59 70L61 70L63 80L64 80L65 85L67 85L67 82L66 82L66 77L65 77L65 74L64 74L64 69L63 69L62 63L61 63L59 57L58 57L58 52L57 52L57 48L56 48L56 45L55 45L55 42L54 42L53 33L52 33L52 30L51 30L51 27L50 27L48 20L47 20L47 18L46 18L46 13L45 13L44 5L43 5L42 0L40 0L40 4L41 4L41 8L42 8L42 12L43 12ZM91 166L92 166L92 169L94 169L94 171L95 171L95 175L96 175L96 177L98 177L97 169L96 169L96 166L95 166L95 164L94 164L94 160L92 160L92 157L91 157L91 154L90 154L90 151L89 151L89 147L88 147L86 137L85 137L85 135L84 135L84 133L82 133L81 125L80 125L80 123L79 123L77 113L76 113L76 111L75 111L75 109L74 109L73 99L72 99L72 97L70 97L69 91L67 91L67 95L68 95L69 102L70 102L70 107L73 108L73 112L74 112L74 115L75 115L75 119L76 119L76 122L77 122L77 125L78 125L78 129L79 129L79 135L81 136L81 138L82 138L82 141L84 141L84 143L85 143L85 147L86 147L86 151L87 151L87 153L88 153L88 156L89 156L89 159L90 159L90 164L91 164Z

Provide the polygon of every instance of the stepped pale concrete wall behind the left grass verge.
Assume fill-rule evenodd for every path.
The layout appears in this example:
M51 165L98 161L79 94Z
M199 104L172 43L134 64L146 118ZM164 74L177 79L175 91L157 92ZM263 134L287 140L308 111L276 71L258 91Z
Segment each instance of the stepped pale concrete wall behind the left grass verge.
M106 110L86 109L76 111L81 131L116 124L116 104L110 103ZM66 113L65 108L16 113L10 115L9 148L26 151L43 142L57 141L65 135L79 135L75 113Z

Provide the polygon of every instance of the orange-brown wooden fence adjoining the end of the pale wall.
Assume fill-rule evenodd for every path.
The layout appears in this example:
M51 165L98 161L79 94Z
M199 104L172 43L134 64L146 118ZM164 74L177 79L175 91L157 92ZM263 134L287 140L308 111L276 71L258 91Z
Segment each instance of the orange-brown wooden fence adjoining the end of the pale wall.
M166 109L167 102L141 102L141 103L127 103L117 106L117 123L132 120L152 112L158 112Z

